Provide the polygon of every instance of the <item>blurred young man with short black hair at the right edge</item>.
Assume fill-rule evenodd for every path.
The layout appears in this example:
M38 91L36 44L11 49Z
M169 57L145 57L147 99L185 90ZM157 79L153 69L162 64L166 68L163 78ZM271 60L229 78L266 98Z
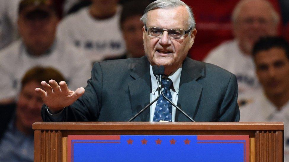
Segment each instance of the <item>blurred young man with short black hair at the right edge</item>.
M284 122L285 161L289 161L288 42L280 37L261 38L253 48L253 58L264 90L240 106L240 122Z

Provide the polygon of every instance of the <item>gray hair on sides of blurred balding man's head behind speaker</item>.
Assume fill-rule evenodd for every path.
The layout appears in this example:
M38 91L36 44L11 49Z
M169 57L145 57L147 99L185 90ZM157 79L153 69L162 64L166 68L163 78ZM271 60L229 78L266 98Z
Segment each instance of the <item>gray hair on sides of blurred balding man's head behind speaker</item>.
M241 9L242 7L249 3L250 1L253 1L253 0L241 0L237 3L237 5L235 6L233 12L232 12L232 22L235 24L238 20L238 16L241 14ZM267 0L262 0L265 2L265 5L267 5L269 7L269 9L271 10L271 17L273 19L273 23L274 25L277 25L279 23L279 20L280 20L280 17L278 15L278 13L275 11L274 7L272 6L272 4L267 1Z

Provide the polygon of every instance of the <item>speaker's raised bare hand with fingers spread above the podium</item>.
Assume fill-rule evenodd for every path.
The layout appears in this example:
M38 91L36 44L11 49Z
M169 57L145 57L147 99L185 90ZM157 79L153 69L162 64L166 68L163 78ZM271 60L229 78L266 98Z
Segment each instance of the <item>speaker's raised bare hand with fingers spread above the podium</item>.
M49 107L52 113L71 105L84 94L84 88L81 87L71 91L65 81L61 81L59 85L54 80L49 80L48 83L46 81L41 82L41 86L45 91L40 88L36 88L35 91L41 96L44 104Z

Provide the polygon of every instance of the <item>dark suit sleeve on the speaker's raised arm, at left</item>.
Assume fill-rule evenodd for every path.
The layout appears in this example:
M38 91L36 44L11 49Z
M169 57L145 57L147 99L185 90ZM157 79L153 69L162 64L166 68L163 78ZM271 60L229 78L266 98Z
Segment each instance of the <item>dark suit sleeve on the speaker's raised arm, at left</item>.
M84 122L97 121L101 108L102 97L102 69L99 63L95 63L91 78L84 88L84 94L78 98L73 104L65 107L62 112L51 115L43 105L41 109L42 119L45 122ZM55 116L55 117L54 117Z

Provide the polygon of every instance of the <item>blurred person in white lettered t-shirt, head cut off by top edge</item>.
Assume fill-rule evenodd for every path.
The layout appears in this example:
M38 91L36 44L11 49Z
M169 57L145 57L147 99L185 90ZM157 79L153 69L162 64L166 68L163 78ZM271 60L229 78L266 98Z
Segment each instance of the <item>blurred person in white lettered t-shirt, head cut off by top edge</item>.
M81 49L91 63L120 56L126 51L120 14L118 0L93 0L91 6L63 19L57 35Z

